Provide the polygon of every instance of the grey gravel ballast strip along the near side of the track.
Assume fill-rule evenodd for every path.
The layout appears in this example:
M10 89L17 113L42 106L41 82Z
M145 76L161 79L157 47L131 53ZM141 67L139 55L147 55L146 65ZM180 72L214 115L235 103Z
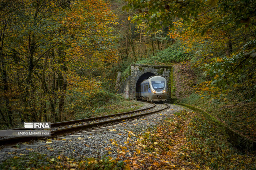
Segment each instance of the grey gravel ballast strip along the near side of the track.
M152 104L145 103L143 107L150 106L152 106ZM163 106L164 105L157 105L154 108L160 109ZM127 147L129 152L126 152L125 156L128 156L136 152L136 148L134 148L134 145L130 146L130 144L127 144L127 141L129 141L129 143L135 142L137 140L136 136L140 133L160 124L167 117L172 117L173 113L184 110L184 108L178 105L169 104L169 106L169 108L163 111L135 120L125 121L129 122L128 124L124 124L125 122L123 122L115 124L118 125L115 127L111 125L113 128L99 134L84 135L79 138L72 138L72 140L36 141L30 145L21 144L19 149L3 148L0 150L0 162L14 156L29 154L29 152L38 152L40 154L46 154L49 157L57 157L62 154L75 159L80 159L81 157L102 158L104 156L115 158L118 155L118 148L121 146Z

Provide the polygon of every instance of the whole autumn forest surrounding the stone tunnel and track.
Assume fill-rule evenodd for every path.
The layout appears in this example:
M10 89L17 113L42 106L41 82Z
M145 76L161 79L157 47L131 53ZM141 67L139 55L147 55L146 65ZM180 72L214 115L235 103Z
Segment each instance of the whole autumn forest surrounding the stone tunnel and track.
M172 103L255 141L255 13L255 0L0 0L0 130L128 110L114 86L136 63L174 66Z

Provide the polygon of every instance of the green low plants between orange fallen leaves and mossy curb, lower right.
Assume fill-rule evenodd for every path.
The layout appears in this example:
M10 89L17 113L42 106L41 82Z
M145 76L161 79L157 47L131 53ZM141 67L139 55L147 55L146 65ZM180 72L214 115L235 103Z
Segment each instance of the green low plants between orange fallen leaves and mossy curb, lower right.
M193 113L188 129L185 131L188 143L183 151L189 154L188 161L198 162L201 167L211 169L254 169L255 155L242 153L227 142L227 136L221 133L212 122Z

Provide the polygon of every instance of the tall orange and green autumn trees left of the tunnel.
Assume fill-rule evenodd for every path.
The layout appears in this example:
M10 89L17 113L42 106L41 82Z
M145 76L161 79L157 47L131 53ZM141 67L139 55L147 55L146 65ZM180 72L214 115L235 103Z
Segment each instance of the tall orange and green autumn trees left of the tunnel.
M66 120L68 96L96 93L102 82L93 75L117 61L116 16L102 0L0 5L1 124Z

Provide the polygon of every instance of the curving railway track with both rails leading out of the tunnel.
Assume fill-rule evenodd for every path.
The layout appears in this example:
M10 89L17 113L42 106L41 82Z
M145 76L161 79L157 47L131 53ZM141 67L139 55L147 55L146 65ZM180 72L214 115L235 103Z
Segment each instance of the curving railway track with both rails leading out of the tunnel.
M146 115L167 109L169 108L169 105L163 104L162 107L160 107L159 109L155 109L155 107L156 105L154 104L154 106L152 107L130 111L130 112L52 123L51 135L50 137L47 137L47 138L48 139L53 139L53 138L71 139L71 138L75 138L75 137L79 137L87 134L99 133L101 131L108 130L109 128L111 128L111 126L102 127L103 125L109 125L109 124L118 123L118 122L124 122L125 124L125 122L128 120L136 119L138 117L146 116ZM146 112L148 110L152 110L152 111ZM144 111L144 113L140 113L142 111ZM100 121L100 120L103 120L103 121ZM127 124L129 124L129 122ZM67 126L67 125L69 125L70 127L63 128L63 126ZM117 126L117 125L114 125L114 126ZM91 128L94 128L94 130ZM12 130L25 130L25 128L16 128ZM70 134L74 134L74 135L70 135ZM65 135L65 137L62 137L63 135ZM36 137L36 136L29 136L29 137L20 136L20 137L4 138L4 139L0 139L0 146L11 147L11 146L15 146L19 142L28 142L31 140L41 140L41 139L46 139L46 138Z

